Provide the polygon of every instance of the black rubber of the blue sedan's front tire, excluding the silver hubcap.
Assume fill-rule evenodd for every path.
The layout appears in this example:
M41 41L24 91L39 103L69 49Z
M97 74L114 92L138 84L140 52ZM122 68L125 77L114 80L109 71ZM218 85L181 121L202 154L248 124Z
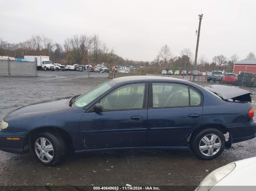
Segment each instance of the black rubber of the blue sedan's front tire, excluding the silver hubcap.
M42 161L36 153L35 142L38 138L41 138L41 137L47 139L52 144L52 147L53 147L53 157L52 157L52 160L49 162ZM36 134L32 141L32 150L35 154L35 157L42 164L46 166L55 166L60 162L62 162L66 156L65 142L58 133L54 133L54 132L40 132Z

